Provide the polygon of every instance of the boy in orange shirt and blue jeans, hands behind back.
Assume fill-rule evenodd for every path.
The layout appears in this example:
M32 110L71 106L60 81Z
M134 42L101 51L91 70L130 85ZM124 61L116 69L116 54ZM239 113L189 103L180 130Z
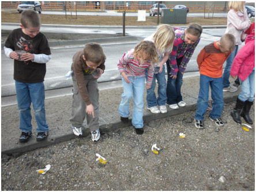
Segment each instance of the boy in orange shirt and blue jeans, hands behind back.
M204 129L204 114L208 107L209 87L212 90L212 111L210 120L216 125L223 126L221 113L223 110L223 64L235 48L235 37L232 34L224 34L220 41L206 45L197 57L200 71L200 89L195 112L195 127Z

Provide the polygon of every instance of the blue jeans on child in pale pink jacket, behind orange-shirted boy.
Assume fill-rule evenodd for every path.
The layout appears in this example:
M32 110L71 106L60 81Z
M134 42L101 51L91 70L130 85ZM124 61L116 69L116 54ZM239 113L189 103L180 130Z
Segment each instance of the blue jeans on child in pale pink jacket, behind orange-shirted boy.
M229 87L230 82L229 82L229 75L230 75L230 70L231 70L231 66L233 63L233 60L236 56L236 53L238 53L238 45L235 46L235 50L229 55L227 61L226 61L226 66L225 66L225 70L223 73L223 87Z

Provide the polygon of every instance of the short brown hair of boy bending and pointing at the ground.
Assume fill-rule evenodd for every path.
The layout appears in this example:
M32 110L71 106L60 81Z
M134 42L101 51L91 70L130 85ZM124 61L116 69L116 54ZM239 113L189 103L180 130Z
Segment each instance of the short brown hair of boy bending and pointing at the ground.
M103 53L103 49L98 43L88 43L84 47L84 56L86 60L92 63L98 64L100 62L105 63L106 56Z

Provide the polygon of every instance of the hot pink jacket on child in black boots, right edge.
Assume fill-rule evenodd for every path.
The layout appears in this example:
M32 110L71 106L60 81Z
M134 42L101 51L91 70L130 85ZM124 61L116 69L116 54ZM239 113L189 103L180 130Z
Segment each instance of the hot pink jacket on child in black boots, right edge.
M236 54L231 66L230 75L238 75L242 81L251 74L255 67L255 39L253 35L246 37L245 45Z

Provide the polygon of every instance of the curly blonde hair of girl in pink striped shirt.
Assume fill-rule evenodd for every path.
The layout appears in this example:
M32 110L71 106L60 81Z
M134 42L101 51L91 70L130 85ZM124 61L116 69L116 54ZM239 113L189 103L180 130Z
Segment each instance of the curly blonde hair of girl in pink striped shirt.
M150 64L158 62L155 44L152 41L141 41L134 48L133 56L136 58L138 52L146 53L149 56Z

